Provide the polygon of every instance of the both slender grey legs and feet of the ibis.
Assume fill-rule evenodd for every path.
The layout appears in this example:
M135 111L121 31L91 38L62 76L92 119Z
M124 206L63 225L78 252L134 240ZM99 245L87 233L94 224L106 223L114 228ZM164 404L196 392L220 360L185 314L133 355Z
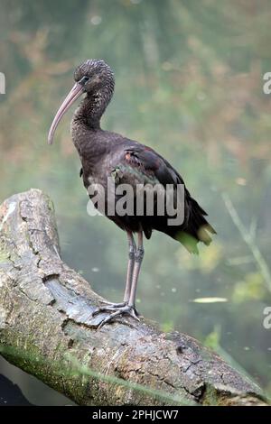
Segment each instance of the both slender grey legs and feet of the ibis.
M128 272L127 272L127 281L126 281L126 292L125 292L125 303L124 306L121 307L111 307L111 308L102 308L98 309L93 312L93 316L98 315L100 312L113 312L111 315L109 315L107 318L104 318L98 325L98 328L104 326L108 322L112 322L117 317L121 317L123 315L129 315L130 317L133 317L137 320L138 318L138 312L135 309L135 292L136 292L136 285L138 281L138 275L140 272L141 263L143 261L144 256L144 248L143 248L143 232L140 231L138 233L138 246L136 249L136 252L134 253L135 260L133 261L133 269L132 269L132 263L130 263L130 256L129 256L129 265L128 265Z

